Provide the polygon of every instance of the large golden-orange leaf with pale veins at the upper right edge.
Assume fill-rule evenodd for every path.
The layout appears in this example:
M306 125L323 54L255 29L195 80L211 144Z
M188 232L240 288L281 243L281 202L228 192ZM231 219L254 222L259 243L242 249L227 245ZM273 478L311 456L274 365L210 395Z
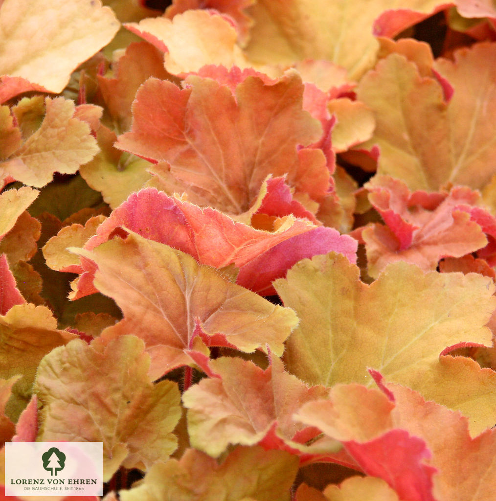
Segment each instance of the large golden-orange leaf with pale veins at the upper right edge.
M437 80L420 76L403 56L380 61L357 87L377 121L369 143L380 148L378 172L412 190L484 187L496 172L496 142L487 125L496 106L495 58L496 44L485 43L455 52L454 62L437 60L435 70L454 88L449 103Z

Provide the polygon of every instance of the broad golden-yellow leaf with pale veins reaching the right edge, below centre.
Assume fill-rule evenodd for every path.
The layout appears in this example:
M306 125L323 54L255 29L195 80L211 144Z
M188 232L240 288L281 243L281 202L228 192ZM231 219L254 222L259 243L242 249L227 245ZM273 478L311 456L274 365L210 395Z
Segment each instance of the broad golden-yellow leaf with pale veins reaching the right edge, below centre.
M370 384L370 367L415 388L446 347L490 344L483 326L494 310L493 287L486 277L424 274L403 262L368 286L339 255L300 261L275 282L300 318L287 341L287 368L309 384L330 386Z

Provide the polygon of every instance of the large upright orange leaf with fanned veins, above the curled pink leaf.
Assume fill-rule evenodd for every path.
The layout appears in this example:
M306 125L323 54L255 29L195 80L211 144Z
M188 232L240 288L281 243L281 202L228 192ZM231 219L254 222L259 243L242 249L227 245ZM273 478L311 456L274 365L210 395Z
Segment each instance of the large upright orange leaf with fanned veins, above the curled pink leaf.
M297 151L317 141L321 130L302 109L304 86L296 72L273 85L247 77L235 96L207 78L190 76L186 82L180 90L171 82L147 80L133 105L132 129L119 136L116 147L168 162L174 178L209 205L234 214L249 208L268 174L287 174L290 185L311 196L326 194L329 172L322 152L299 158ZM318 170L309 179L312 168Z

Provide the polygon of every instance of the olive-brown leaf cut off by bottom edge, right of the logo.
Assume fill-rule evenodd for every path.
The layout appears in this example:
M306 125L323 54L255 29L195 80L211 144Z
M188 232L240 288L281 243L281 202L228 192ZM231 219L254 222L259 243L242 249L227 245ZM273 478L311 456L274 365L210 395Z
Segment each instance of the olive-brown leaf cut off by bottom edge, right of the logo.
M297 470L296 456L279 450L236 447L218 464L188 449L179 461L155 464L139 486L119 496L122 501L289 501Z

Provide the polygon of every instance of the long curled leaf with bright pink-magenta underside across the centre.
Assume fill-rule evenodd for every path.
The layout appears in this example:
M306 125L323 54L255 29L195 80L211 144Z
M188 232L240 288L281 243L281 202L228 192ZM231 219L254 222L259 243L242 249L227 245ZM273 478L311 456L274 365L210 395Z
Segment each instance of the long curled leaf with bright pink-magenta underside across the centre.
M182 250L201 264L216 268L234 265L239 268L236 283L261 294L272 292L272 281L284 277L304 257L336 250L356 261L356 241L333 228L288 216L276 219L272 231L259 230L155 189L131 195L98 228L86 248L94 248L116 231L122 233L117 229L121 226ZM74 299L95 292L91 265L84 270Z

